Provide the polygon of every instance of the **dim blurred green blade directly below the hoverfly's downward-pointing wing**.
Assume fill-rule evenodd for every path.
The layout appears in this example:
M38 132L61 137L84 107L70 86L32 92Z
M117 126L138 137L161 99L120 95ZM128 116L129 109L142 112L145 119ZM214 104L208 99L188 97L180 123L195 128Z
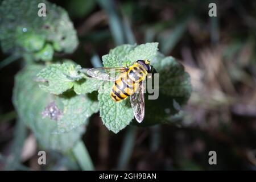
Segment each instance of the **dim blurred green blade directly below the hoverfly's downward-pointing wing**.
M129 129L125 135L125 140L123 142L121 154L120 154L119 160L118 160L117 168L119 170L125 169L130 158L131 158L131 154L133 152L133 148L134 148L134 144L135 144L136 133L137 133L137 128L129 127Z

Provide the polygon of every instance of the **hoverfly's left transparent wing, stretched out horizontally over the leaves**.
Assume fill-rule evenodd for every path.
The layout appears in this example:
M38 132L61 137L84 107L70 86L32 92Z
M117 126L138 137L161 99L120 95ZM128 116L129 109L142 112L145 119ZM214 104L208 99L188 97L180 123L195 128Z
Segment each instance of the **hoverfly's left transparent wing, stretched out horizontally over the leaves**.
M119 73L123 73L127 68L92 68L87 71L89 76L100 80L114 81L117 80Z

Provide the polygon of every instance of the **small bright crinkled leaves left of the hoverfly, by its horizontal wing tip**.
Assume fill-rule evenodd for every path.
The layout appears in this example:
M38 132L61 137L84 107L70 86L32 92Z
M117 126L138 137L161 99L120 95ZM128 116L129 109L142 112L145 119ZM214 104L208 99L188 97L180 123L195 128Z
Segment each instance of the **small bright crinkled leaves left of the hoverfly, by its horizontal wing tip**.
M51 64L38 73L37 81L43 82L39 87L52 94L62 94L73 88L76 94L92 93L100 88L101 80L88 77L80 65L70 60L63 64Z

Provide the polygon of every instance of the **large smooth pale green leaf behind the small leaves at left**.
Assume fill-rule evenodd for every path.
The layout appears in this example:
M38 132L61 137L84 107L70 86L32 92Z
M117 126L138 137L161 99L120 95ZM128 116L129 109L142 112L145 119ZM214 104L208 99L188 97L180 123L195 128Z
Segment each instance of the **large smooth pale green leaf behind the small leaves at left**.
M49 117L43 118L43 112L50 103L59 106L59 102L62 101L62 98L39 89L38 82L34 81L36 74L43 68L41 65L30 65L15 76L14 106L19 118L30 127L43 148L66 152L80 139L84 133L84 125L67 133L56 133L57 121ZM61 110L61 107L59 109L62 113L72 113L69 111L72 106L65 108L66 110ZM55 114L60 114L60 112L55 112Z

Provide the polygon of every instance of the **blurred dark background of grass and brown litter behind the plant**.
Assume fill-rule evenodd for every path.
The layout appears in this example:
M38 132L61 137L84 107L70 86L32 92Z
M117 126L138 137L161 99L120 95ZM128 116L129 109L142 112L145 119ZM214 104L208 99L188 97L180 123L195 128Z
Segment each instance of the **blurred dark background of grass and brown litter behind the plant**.
M117 45L159 42L159 51L180 60L191 76L191 98L171 125L130 127L115 135L94 114L82 139L96 169L256 169L256 1L49 2L68 11L79 36L76 51L60 57L99 67L95 60ZM217 17L208 15L211 2ZM6 57L0 53L0 60ZM15 138L25 132L11 102L22 65L5 64L1 61L0 169L14 156L21 156L21 163L7 169L77 169L54 151L49 165L39 166L31 132L25 129L24 143ZM217 165L208 163L212 150Z

